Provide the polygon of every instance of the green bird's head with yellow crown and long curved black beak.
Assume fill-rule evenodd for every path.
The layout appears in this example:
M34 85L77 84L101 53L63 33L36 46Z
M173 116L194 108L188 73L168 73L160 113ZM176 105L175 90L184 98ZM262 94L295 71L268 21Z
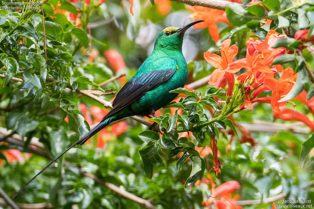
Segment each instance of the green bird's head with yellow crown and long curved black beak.
M191 26L203 22L204 20L194 21L182 28L168 27L163 29L155 40L155 49L182 50L183 36L185 31Z

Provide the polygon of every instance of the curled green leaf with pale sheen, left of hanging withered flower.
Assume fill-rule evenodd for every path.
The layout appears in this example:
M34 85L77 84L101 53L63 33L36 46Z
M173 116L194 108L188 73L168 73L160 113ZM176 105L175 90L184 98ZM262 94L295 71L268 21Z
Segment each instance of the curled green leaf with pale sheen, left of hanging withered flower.
M192 161L192 171L189 178L185 182L185 188L192 183L195 183L198 179L201 179L205 171L205 161L200 156L192 155L190 156L190 159Z

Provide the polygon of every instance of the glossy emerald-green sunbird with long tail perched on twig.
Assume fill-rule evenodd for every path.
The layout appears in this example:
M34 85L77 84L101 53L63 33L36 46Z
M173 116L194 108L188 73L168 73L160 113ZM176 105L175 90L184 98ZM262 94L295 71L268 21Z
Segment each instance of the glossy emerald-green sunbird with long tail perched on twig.
M187 81L187 62L182 54L183 36L187 29L203 21L194 21L181 28L167 27L163 29L155 39L154 50L151 55L138 68L135 75L122 86L112 102L111 110L100 123L52 160L26 183L12 199L69 149L84 144L111 122L134 115L149 118L151 116L156 117L156 110L164 107L178 96L177 93L170 93L169 91L184 87Z

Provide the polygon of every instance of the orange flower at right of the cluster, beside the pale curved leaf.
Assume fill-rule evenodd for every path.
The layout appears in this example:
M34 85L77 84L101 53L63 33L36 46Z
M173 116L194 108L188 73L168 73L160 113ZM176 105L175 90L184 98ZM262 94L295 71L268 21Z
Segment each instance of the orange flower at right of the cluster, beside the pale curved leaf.
M293 69L287 68L283 71L282 76L279 80L274 79L273 77L267 77L264 81L264 86L273 91L271 98L271 107L273 112L277 112L279 116L282 116L279 110L278 101L281 99L281 96L286 95L292 86L295 83L295 79L297 78L297 73L293 75Z

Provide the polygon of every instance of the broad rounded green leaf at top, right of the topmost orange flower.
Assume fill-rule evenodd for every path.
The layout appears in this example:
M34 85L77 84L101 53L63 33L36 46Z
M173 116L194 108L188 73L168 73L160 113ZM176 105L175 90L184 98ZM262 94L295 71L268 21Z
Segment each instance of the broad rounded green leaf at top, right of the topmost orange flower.
M254 19L254 16L239 4L229 4L225 11L230 25L233 26L241 26Z

